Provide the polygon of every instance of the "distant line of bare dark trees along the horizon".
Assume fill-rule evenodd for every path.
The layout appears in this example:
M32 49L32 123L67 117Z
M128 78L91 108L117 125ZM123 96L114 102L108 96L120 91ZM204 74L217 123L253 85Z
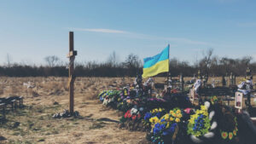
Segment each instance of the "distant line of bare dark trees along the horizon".
M67 77L67 65L61 63L56 56L48 56L44 59L47 66L28 66L25 64L11 64L0 66L0 76L9 77ZM241 59L231 59L228 57L218 57L212 55L212 49L209 49L201 60L196 60L194 64L188 61L170 60L170 72L172 76L183 73L185 77L192 77L197 74L207 72L209 76L223 76L233 72L236 76L243 76L246 73L247 66L256 73L256 62L252 62L250 56ZM109 55L105 62L87 61L84 63L75 63L75 75L77 77L136 77L137 73L143 72L143 62L137 55L128 55L123 62L117 60L117 56ZM159 76L166 76L162 73Z

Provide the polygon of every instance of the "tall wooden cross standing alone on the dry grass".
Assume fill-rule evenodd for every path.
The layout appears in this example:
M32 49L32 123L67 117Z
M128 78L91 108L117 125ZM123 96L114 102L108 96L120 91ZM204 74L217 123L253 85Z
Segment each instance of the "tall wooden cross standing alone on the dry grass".
M73 32L69 32L69 53L67 57L69 58L69 67L68 67L68 83L67 86L69 88L69 112L73 115L73 90L74 90L74 81L75 76L73 73L73 64L75 55L78 55L76 50L73 50Z

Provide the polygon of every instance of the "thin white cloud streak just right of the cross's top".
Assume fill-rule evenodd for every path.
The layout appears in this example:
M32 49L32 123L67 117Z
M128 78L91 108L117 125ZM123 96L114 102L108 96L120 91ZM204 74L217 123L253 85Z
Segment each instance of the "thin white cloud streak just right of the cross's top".
M104 29L104 28L71 28L73 31L80 31L80 32L102 32L102 33L123 33L127 34L129 32L119 31L119 30L112 30L112 29Z

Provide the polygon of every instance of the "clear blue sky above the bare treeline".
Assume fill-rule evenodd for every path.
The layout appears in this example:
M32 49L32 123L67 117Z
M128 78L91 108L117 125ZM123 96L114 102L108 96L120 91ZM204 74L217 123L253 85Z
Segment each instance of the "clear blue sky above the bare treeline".
M74 32L78 61L119 60L130 53L156 55L170 43L170 57L193 63L202 51L256 60L254 0L0 0L0 65L66 60Z

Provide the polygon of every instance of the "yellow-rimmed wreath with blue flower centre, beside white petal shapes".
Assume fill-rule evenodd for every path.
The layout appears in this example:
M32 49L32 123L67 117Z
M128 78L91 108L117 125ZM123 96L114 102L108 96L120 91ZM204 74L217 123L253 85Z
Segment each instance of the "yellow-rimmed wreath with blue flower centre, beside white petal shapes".
M196 110L195 114L190 116L187 133L198 137L207 134L210 128L211 124L207 108L201 106L201 110Z

